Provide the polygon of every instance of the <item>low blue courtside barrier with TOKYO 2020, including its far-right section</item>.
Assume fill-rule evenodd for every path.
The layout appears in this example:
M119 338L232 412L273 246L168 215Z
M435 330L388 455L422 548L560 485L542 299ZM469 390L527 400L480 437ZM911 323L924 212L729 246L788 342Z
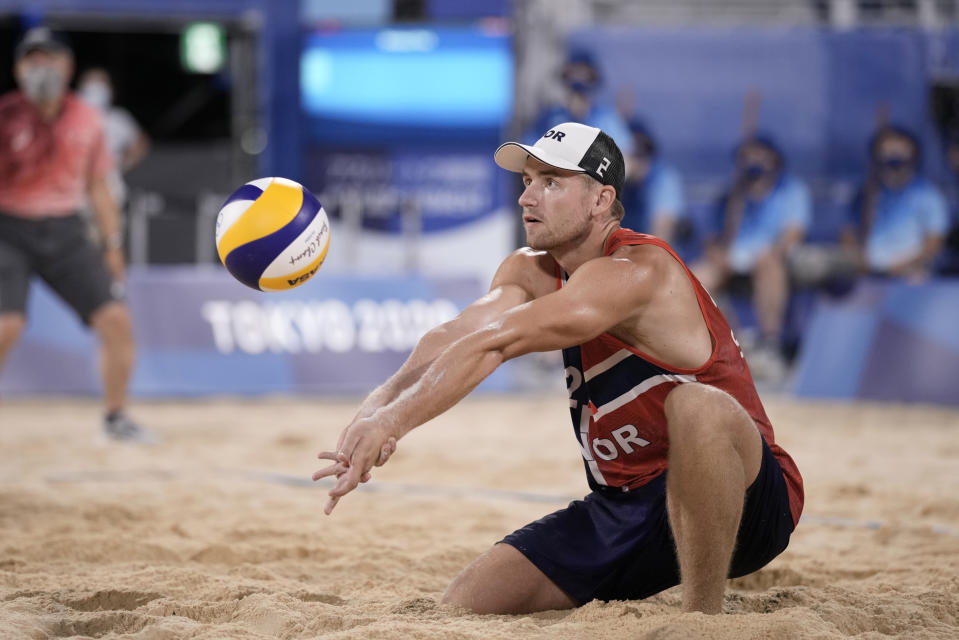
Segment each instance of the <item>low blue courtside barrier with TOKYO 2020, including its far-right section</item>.
M358 395L385 380L419 337L483 287L469 278L323 274L263 294L219 267L131 267L137 336L135 396L318 393ZM799 396L959 404L959 282L864 281L820 297L803 336ZM41 283L0 393L97 394L96 339ZM545 363L501 367L485 391L557 386ZM555 374L555 375L554 375ZM555 378L555 380L554 380ZM545 382L544 382L545 380Z

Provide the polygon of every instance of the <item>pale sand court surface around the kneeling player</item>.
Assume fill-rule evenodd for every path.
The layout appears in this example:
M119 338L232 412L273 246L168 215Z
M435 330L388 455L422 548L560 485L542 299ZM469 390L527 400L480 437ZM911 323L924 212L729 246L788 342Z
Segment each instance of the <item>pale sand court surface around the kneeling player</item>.
M804 520L709 617L675 589L527 616L437 604L503 535L584 494L562 390L468 399L331 517L309 476L355 399L139 402L150 447L99 442L93 400L4 399L0 637L959 637L959 411L765 402Z

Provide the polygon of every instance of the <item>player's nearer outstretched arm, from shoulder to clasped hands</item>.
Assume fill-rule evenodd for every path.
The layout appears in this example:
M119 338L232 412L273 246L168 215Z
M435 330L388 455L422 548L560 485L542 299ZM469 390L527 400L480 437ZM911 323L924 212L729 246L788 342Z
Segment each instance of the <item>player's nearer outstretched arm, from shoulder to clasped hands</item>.
M314 474L315 479L338 478L326 512L368 477L391 441L455 405L506 360L579 344L637 313L650 295L649 282L648 274L629 260L594 260L563 289L512 306L450 344L415 383L351 424L338 450L328 452L337 462Z

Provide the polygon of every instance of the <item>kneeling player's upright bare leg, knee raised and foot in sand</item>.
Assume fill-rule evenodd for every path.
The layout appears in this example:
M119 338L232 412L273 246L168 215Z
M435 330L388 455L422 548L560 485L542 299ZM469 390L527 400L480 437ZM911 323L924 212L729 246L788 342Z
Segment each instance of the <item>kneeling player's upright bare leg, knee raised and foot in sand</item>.
M687 611L722 611L746 489L762 463L762 437L732 396L699 383L666 398L666 501Z

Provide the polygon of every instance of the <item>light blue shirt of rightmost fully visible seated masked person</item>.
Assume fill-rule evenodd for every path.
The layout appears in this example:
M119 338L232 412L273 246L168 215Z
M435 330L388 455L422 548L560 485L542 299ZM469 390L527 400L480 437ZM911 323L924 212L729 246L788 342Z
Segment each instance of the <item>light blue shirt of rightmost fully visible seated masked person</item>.
M922 252L929 235L944 235L949 228L946 200L922 177L898 190L882 187L866 238L866 263L873 271L886 271Z

